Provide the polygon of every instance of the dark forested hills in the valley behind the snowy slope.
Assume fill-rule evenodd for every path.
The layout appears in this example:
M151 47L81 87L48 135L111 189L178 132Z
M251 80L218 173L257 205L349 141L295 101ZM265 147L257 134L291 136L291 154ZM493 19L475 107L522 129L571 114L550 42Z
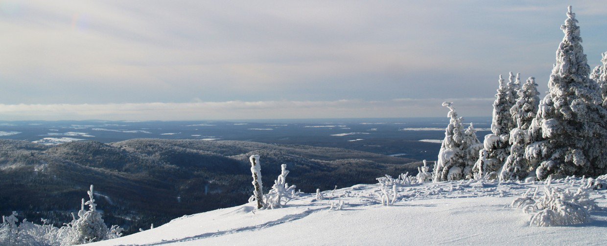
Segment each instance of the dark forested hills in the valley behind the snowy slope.
M248 156L260 155L262 178L273 184L280 164L305 192L375 183L385 174L416 172L419 163L341 148L243 141L132 139L111 144L47 146L0 140L0 212L30 221L71 220L90 184L107 224L127 233L184 214L243 204L251 194ZM407 164L409 163L409 164Z

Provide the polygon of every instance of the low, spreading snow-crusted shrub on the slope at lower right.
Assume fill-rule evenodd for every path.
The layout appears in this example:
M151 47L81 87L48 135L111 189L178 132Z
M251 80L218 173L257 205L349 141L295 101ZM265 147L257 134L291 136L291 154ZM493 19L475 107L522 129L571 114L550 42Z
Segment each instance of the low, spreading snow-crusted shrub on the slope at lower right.
M591 221L589 211L597 210L594 199L589 198L588 189L580 187L575 191L544 186L543 196L533 196L529 191L512 202L512 207L522 208L532 214L530 225L549 227L555 225L574 225Z

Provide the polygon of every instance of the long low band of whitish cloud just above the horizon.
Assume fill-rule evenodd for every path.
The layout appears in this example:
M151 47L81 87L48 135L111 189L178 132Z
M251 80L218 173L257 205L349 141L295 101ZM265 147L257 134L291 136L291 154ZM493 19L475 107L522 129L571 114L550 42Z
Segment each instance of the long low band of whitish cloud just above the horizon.
M490 115L492 98L459 98L455 107L463 116ZM399 118L445 116L443 99L388 101L226 101L153 102L127 104L0 104L7 120L209 120L285 118Z

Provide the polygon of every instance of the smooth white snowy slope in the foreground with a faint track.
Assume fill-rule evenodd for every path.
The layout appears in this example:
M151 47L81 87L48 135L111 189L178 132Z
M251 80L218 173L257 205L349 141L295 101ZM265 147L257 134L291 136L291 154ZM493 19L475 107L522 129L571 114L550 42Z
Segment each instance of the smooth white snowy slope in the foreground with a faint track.
M579 187L580 179L552 181ZM535 227L510 203L544 182L426 183L398 188L392 206L374 201L379 185L304 194L285 208L255 211L253 204L183 216L141 233L90 245L605 245L607 211L583 225ZM333 194L332 194L333 193ZM596 191L607 207L607 191ZM331 195L332 194L332 195ZM332 198L329 200L328 198ZM342 210L331 202L344 201Z

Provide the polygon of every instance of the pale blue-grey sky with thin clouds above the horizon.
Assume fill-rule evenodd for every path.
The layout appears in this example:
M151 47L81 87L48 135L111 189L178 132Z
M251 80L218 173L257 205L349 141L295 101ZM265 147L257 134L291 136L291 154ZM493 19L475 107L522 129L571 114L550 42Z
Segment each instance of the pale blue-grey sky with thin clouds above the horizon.
M569 4L599 65L597 1L0 0L0 120L490 116Z

